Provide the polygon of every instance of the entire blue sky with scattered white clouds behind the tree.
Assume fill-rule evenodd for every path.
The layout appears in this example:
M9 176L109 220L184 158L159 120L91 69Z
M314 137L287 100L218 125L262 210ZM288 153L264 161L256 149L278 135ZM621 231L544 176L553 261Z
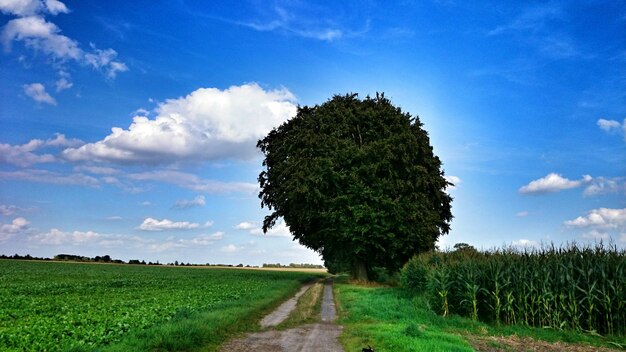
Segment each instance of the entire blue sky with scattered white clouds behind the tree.
M258 199L297 106L384 92L455 184L439 246L626 247L626 4L0 0L0 253L322 263Z

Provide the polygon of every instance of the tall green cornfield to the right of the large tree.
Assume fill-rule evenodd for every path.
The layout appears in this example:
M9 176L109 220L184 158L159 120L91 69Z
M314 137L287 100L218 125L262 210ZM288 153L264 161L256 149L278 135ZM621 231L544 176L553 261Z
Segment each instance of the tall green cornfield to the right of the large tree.
M401 277L443 316L626 334L626 253L616 247L430 252Z

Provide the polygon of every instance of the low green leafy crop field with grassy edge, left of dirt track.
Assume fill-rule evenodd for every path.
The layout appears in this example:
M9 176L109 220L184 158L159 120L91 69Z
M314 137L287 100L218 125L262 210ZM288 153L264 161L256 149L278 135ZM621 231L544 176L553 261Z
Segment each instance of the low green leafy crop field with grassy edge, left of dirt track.
M246 317L271 309L315 275L0 260L0 350L116 350L141 334L136 340L142 341L130 345L206 348L226 338L229 326L245 326ZM205 320L201 328L180 324L194 319ZM152 334L159 341L151 342L154 329L160 329ZM191 336L178 336L181 331ZM178 343L168 342L168 334L189 341L167 347Z

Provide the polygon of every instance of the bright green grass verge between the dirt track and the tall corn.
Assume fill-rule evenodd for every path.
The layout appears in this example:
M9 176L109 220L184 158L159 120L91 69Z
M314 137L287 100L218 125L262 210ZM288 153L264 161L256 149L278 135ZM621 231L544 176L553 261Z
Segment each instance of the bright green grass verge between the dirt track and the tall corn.
M604 351L626 345L624 338L523 326L495 327L459 316L433 313L422 297L410 298L392 287L335 284L340 339L346 351L371 345L384 351ZM521 343L520 343L521 341ZM547 343L546 343L547 342ZM538 349L533 349L536 343ZM551 344L554 344L551 346ZM489 347L484 349L485 347ZM550 349L554 347L554 349Z

